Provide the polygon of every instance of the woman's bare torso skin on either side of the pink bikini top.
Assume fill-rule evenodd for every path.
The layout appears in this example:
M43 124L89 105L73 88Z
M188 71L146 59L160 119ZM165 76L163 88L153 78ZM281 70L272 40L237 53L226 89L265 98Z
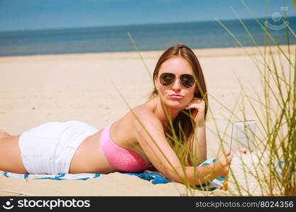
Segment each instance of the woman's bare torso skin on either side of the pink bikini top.
M150 162L146 154L143 153L143 149L138 141L131 136L131 131L134 129L134 119L133 114L128 112L124 117L111 125L109 136L111 140L121 148L126 148L141 155L146 164L149 165ZM69 170L70 173L88 172L104 174L119 171L108 162L102 151L100 139L103 130L104 129L98 131L96 134L82 141L72 158Z

